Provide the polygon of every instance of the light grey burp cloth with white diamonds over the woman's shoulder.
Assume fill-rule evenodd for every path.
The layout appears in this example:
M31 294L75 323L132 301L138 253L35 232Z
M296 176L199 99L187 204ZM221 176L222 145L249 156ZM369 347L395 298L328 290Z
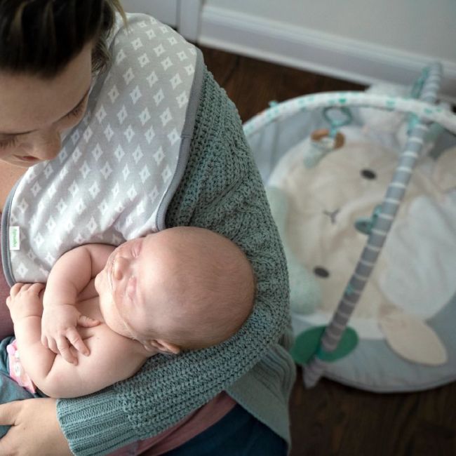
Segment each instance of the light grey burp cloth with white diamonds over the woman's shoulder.
M112 67L94 78L86 115L58 157L29 168L8 200L4 227L20 233L20 250L7 252L10 284L46 281L58 257L83 243L117 246L164 227L202 60L150 16L129 15L128 24L118 18Z

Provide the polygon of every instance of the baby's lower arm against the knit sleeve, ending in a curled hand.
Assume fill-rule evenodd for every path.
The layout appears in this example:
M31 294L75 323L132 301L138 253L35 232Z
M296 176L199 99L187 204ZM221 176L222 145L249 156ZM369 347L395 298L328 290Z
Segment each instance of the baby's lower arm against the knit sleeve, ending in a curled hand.
M44 394L55 398L84 396L125 380L136 373L151 353L139 342L114 333L106 325L88 328L85 342L90 356L80 356L77 365L41 344L41 283L16 283L7 304L13 318L20 362Z

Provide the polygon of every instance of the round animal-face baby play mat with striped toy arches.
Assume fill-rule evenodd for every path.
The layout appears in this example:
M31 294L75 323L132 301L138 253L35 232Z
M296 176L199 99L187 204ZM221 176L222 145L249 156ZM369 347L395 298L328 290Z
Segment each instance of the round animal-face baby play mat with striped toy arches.
M288 262L295 347L370 391L456 379L456 116L410 87L305 95L248 121Z

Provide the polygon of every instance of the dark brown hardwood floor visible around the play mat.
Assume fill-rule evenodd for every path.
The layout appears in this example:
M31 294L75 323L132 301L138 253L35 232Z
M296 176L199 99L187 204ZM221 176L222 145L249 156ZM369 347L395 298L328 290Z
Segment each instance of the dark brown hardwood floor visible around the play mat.
M202 50L243 121L271 100L363 89L327 76ZM329 380L304 389L299 372L290 414L290 456L456 456L456 382L413 394L373 394Z

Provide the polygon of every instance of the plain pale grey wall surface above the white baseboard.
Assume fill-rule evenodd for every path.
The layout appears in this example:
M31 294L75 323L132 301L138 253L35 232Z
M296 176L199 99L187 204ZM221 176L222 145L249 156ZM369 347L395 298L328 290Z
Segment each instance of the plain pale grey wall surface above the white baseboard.
M455 0L206 0L206 5L456 62Z

